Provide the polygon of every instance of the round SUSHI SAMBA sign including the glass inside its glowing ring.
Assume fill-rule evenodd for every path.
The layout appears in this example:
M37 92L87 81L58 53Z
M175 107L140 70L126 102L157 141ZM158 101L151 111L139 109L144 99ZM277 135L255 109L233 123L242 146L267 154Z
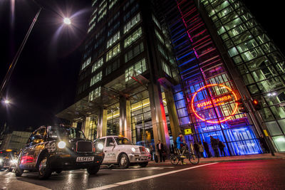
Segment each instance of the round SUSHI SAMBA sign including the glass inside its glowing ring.
M202 90L207 90L208 88L212 88L212 90L217 89L220 91L222 91L222 89L227 89L227 93L212 97L210 99L207 98L206 100L197 101L197 98L195 99L197 94L204 94ZM234 106L227 104L227 102L234 102ZM197 90L191 100L191 108L195 116L200 120L209 123L219 123L229 120L235 114L235 112L237 112L237 105L237 95L234 93L234 91L226 85L220 84L205 85ZM226 112L224 112L224 108L226 108ZM219 115L219 120L217 117L215 117L215 115Z

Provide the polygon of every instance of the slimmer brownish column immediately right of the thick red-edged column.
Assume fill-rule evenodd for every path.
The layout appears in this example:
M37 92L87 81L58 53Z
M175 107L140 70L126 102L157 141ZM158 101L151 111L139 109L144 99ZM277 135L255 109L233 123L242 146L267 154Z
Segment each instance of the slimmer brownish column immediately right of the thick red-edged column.
M180 133L180 127L171 88L165 91L165 99L167 102L168 117L170 118L170 128L172 132L173 142L175 142L178 134Z

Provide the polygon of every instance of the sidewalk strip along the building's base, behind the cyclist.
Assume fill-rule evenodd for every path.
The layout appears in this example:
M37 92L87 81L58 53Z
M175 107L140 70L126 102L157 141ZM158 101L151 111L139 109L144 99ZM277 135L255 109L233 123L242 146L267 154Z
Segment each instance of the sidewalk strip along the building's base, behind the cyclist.
M199 163L234 162L234 161L249 161L249 160L259 160L259 159L285 159L285 152L275 153L274 157L271 154L250 154L250 155L233 156L233 157L201 158ZM171 163L169 160L166 160L165 162L158 162L158 163L150 161L149 164L171 164Z

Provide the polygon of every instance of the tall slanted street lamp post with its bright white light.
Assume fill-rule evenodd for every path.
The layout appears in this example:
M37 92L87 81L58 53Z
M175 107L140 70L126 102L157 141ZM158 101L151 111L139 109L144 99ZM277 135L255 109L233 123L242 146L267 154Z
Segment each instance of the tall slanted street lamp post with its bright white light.
M21 56L21 52L23 51L24 46L25 46L25 44L26 44L26 41L28 40L28 36L30 36L31 31L33 30L33 26L35 25L35 23L36 23L36 21L37 21L37 19L38 19L38 16L39 16L39 14L41 13L41 10L43 9L43 6L41 6L40 4L38 4L36 1L33 1L33 2L35 2L35 3L39 6L39 9L38 9L38 11L37 11L37 13L36 13L36 16L33 18L33 21L32 21L32 23L31 23L31 26L28 28L28 31L27 31L27 33L26 33L26 36L25 36L24 40L23 40L22 43L21 43L21 46L19 47L19 49L18 49L18 51L17 51L17 53L16 53L14 59L12 60L11 64L9 65L9 68L8 68L8 70L7 70L7 73L6 73L5 77L4 77L4 80L3 80L2 83L1 83L1 88L0 88L0 100L2 100L3 97L4 97L4 90L6 89L6 85L7 85L7 83L9 82L9 80L10 80L10 78L11 78L11 75L12 75L12 73L13 73L13 70L14 70L14 68L15 68L15 66L16 66L16 63L17 63L19 57ZM71 24L71 19L64 18L64 19L63 19L63 23L70 25L70 24ZM6 101L6 100L4 100L4 101Z

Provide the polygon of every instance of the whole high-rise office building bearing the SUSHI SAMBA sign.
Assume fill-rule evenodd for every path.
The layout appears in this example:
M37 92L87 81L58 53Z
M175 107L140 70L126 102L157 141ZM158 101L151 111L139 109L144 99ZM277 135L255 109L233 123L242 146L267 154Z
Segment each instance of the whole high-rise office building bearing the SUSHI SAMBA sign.
M285 150L284 56L242 2L92 6L76 103L58 117L90 139L123 134L170 147L182 130L190 147L212 136L240 155L264 152L259 137L269 134L268 146Z

